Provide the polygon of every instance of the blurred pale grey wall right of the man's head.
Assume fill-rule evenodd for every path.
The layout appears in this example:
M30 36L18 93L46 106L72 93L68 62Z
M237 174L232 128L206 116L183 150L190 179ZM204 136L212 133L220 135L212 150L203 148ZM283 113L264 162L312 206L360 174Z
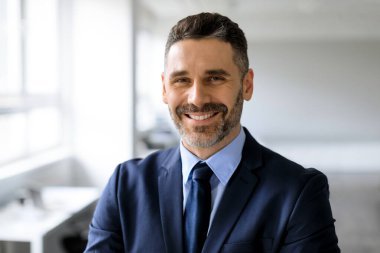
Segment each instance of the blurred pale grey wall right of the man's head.
M259 41L249 45L253 101L243 123L297 161L380 169L380 41Z

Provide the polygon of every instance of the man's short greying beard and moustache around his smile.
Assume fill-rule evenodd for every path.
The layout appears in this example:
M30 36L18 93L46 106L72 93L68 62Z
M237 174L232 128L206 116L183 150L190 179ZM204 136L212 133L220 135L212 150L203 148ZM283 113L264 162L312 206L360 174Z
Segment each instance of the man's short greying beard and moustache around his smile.
M173 112L169 107L170 116L179 131L183 141L192 147L208 148L221 142L239 123L243 110L243 91L239 91L234 106L228 111L224 104L207 103L202 107L194 104L180 105ZM185 126L181 120L191 112L219 112L221 118L212 125L207 126ZM219 117L219 115L217 115Z

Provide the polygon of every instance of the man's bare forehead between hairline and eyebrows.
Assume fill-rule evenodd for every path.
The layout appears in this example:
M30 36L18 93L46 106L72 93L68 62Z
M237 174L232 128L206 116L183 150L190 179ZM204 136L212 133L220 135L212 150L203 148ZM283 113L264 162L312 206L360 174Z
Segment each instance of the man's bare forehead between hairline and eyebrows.
M218 39L185 39L174 43L166 56L167 70L237 68L231 45Z

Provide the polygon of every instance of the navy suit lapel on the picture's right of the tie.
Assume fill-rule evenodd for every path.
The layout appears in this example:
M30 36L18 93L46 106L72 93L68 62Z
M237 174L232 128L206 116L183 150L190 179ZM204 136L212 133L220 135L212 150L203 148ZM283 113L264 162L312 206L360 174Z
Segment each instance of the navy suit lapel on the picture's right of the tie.
M242 161L224 191L202 252L216 253L221 250L255 188L257 177L252 170L259 166L260 145L246 131Z

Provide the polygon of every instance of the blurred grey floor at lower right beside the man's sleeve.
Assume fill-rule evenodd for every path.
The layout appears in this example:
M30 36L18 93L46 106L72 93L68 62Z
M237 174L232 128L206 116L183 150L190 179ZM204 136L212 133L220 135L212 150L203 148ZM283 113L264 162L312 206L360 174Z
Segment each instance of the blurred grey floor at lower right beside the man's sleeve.
M343 253L380 252L380 173L327 174Z

